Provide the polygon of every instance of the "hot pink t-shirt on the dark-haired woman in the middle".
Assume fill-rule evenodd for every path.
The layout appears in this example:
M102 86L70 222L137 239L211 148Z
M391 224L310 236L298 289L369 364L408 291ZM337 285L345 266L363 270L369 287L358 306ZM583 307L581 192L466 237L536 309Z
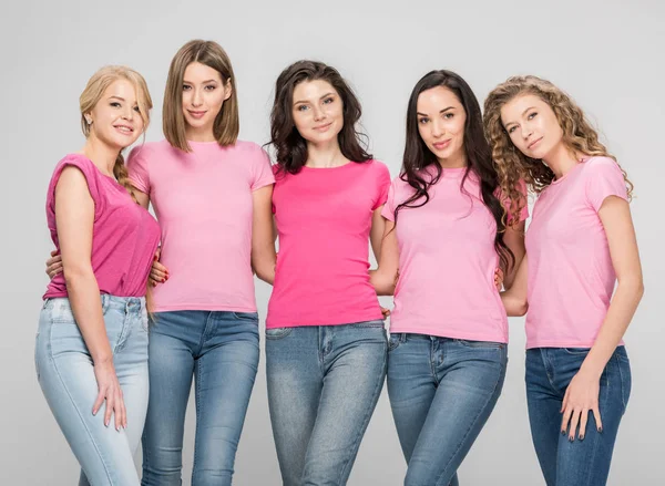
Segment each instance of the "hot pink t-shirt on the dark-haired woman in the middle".
M277 174L273 210L279 231L266 327L335 325L381 319L369 282L372 211L386 203L385 164L350 162Z

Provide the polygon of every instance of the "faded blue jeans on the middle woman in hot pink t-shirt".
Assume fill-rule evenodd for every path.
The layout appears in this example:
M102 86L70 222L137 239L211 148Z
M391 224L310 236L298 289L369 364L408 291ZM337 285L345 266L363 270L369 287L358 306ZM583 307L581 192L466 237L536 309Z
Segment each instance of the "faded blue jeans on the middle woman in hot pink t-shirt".
M284 486L347 483L386 378L382 321L266 330Z

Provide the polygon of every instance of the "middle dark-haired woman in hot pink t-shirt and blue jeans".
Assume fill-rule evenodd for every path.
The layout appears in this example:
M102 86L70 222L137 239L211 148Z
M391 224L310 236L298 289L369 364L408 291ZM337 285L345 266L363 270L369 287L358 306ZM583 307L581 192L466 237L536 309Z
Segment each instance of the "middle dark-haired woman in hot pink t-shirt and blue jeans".
M332 68L299 61L275 86L279 256L266 321L268 405L283 484L345 485L386 375L369 282L390 175L362 148L360 104Z

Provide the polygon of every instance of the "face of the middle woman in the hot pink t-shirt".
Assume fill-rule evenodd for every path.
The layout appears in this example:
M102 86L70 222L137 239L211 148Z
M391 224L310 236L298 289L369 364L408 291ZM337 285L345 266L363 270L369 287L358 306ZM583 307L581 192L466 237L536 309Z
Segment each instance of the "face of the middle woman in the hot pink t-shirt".
M337 139L344 127L344 103L330 83L303 81L294 89L291 115L296 130L313 144Z

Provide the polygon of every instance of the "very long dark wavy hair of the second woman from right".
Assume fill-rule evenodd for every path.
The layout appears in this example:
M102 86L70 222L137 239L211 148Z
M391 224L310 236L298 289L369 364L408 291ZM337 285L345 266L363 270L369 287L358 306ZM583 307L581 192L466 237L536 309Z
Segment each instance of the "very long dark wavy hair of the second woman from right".
M418 208L424 206L429 199L429 188L441 178L443 168L437 156L428 148L418 131L418 96L424 91L443 86L450 90L467 114L464 123L464 153L467 155L467 170L460 183L460 190L464 194L464 183L473 172L480 180L482 200L497 223L494 249L499 255L501 267L509 269L514 265L514 255L503 241L507 225L507 210L497 197L499 176L492 162L490 145L488 144L482 125L480 104L469 84L457 73L447 70L431 71L418 81L407 108L407 136L405 155L400 178L413 188L413 195L395 208L395 224L398 213L403 208ZM427 169L427 170L423 170ZM428 174L423 174L427 172Z

